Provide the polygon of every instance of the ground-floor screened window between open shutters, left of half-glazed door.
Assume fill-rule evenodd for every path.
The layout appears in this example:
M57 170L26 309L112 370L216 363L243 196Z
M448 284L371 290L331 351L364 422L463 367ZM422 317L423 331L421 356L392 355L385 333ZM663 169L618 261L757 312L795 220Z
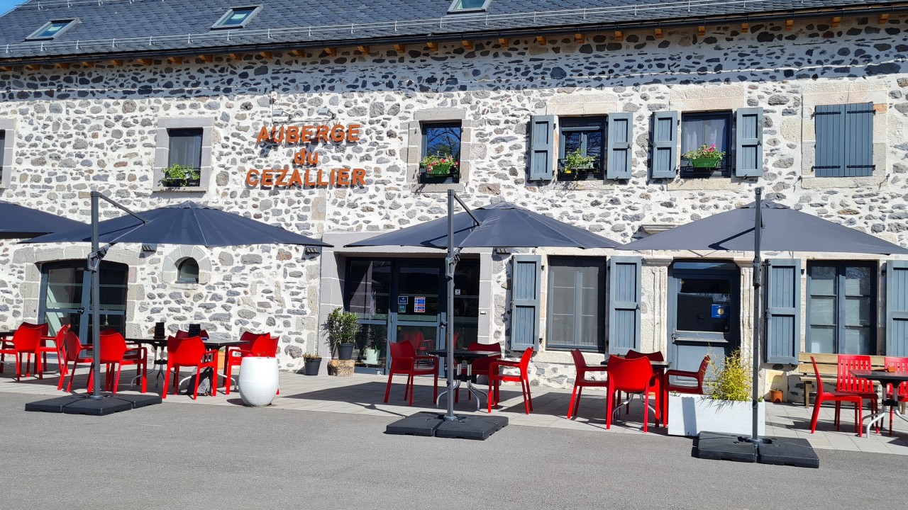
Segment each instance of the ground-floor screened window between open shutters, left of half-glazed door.
M605 350L605 260L550 257L546 348Z

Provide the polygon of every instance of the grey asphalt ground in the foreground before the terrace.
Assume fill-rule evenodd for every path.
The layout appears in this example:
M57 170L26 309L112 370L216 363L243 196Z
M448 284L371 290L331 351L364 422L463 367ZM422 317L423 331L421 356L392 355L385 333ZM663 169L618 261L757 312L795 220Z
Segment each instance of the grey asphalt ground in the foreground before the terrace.
M904 456L817 450L807 469L697 459L683 437L512 426L470 441L286 409L25 412L35 399L0 394L0 509L906 507Z

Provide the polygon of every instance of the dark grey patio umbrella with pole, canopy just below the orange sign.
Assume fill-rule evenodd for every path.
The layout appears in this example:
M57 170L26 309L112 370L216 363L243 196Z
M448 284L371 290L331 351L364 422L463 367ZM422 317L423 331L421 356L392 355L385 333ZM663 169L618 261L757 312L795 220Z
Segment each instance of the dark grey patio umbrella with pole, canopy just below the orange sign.
M98 201L103 199L128 215L113 220L98 221ZM255 221L231 212L186 201L178 205L165 206L151 211L135 213L123 205L92 191L92 224L80 223L73 230L57 231L53 234L37 237L24 242L86 242L92 243L92 253L88 257L88 270L92 271L92 323L100 324L98 307L100 302L100 282L98 268L104 258L106 248L99 244L117 242L191 244L213 246L242 246L247 244L299 244L306 246L331 246L321 240L315 240L300 234L274 227L261 221ZM98 359L99 329L92 329L94 353L94 371L100 373ZM101 398L101 378L94 378L92 397ZM115 411L112 411L115 412ZM101 414L106 414L103 412Z

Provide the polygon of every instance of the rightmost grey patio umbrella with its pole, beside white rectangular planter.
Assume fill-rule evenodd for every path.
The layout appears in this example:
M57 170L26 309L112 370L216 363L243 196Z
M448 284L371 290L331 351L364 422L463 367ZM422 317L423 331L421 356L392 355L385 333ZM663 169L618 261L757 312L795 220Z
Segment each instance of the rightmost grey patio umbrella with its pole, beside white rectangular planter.
M760 286L762 283L761 250L771 251L831 251L846 253L908 253L897 244L878 239L864 232L826 221L810 214L795 211L774 201L763 201L763 188L755 190L755 201L732 211L691 221L650 237L628 242L619 250L725 250L754 251L754 352L753 352L753 432L755 448L760 444L757 434L756 381L759 380L760 359Z

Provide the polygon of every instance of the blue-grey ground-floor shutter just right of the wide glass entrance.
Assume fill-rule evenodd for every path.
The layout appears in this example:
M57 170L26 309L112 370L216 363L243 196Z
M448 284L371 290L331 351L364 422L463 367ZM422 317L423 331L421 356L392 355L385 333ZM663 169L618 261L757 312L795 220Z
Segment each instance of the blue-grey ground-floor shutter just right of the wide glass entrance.
M514 255L511 276L511 350L537 348L542 257Z

